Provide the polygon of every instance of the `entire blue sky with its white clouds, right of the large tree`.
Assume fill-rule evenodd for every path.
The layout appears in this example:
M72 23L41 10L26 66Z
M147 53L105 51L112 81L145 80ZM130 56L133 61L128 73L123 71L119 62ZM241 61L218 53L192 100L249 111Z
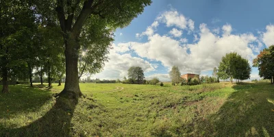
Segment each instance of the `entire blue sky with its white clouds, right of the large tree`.
M155 0L124 28L116 29L108 62L92 79L123 79L140 66L146 79L170 81L169 71L212 75L225 53L252 60L274 44L274 1ZM252 68L251 79L258 79Z

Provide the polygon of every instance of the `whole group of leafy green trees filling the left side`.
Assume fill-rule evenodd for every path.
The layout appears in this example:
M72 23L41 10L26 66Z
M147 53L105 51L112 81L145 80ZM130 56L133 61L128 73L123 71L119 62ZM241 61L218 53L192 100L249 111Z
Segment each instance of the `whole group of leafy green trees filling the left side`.
M129 25L151 0L3 0L0 2L0 69L2 92L9 79L66 73L60 95L82 96L79 77L98 73L117 27ZM34 71L35 70L35 71ZM35 72L35 73L34 73Z

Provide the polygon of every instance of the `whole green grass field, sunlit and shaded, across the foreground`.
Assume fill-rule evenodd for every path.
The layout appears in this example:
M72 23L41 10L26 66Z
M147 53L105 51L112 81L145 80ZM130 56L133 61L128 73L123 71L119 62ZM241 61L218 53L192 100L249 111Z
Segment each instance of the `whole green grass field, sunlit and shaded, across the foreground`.
M274 136L268 83L80 84L75 106L52 96L64 86L39 87L0 94L0 136Z

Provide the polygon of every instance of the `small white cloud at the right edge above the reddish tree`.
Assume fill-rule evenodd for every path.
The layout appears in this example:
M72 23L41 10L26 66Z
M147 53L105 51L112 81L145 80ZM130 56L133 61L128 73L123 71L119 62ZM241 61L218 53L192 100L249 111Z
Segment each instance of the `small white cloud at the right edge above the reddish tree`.
M266 32L261 37L266 47L274 45L274 25L266 25Z

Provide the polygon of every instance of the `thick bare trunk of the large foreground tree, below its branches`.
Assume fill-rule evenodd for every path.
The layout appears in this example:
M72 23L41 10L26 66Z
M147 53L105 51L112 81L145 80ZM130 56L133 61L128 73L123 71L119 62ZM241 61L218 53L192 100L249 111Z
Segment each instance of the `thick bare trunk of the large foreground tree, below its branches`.
M66 82L64 84L64 90L62 90L59 95L69 99L78 99L79 97L82 97L78 79L79 41L69 38L65 43Z

